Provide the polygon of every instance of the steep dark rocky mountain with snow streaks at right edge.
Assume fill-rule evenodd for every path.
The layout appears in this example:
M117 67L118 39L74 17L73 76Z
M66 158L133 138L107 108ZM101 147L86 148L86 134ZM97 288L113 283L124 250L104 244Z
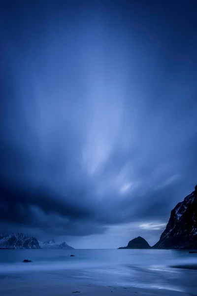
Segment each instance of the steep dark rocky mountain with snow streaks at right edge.
M157 249L197 249L197 185L195 191L171 211Z

